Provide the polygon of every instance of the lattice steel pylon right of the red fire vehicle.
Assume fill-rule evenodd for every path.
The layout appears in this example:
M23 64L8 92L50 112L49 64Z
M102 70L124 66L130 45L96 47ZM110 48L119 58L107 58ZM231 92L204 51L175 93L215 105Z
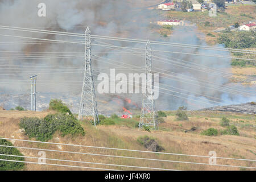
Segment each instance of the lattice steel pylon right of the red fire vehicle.
M146 93L143 93L141 119L139 119L139 129L143 126L153 126L158 129L157 115L155 111L155 100L152 96L152 59L150 42L146 44ZM148 92L149 91L149 92Z

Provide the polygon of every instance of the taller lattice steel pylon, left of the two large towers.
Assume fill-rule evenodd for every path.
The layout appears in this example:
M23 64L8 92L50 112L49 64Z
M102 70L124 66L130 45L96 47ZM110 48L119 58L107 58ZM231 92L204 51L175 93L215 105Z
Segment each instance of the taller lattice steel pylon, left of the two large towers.
M79 107L79 119L83 117L92 122L94 126L99 123L98 107L96 101L96 94L94 89L93 75L92 75L92 41L90 28L87 27L85 31L85 70L84 83L82 84L82 94Z

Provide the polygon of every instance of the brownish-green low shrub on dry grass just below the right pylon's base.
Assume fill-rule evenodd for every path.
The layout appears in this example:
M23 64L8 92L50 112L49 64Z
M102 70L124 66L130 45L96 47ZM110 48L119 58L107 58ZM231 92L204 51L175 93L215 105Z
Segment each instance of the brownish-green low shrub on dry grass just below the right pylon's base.
M160 152L164 150L164 148L159 145L155 138L148 137L147 135L145 135L144 137L138 137L137 141L141 143L144 147L146 147L148 150L154 152Z

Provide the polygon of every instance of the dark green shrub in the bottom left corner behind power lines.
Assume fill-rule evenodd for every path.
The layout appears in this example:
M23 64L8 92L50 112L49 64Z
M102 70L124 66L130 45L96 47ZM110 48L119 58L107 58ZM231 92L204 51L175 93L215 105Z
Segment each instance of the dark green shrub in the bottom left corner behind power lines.
M0 144L3 146L13 146L11 142L5 139L0 139ZM23 156L16 148L11 148L11 147L0 147L0 154ZM16 157L16 156L14 157L14 156L0 155L0 159L24 161L23 157ZM24 168L24 163L0 160L0 171L19 170L23 168Z

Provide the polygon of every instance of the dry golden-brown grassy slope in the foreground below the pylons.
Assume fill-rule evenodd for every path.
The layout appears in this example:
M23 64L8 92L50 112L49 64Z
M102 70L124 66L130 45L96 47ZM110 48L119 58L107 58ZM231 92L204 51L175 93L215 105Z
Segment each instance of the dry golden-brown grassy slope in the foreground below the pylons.
M28 139L23 133L19 131L18 122L20 117L44 117L47 112L36 112L31 111L0 111L0 136L9 138L20 138ZM218 137L206 137L200 135L200 131L214 127L220 129L218 123L221 117L227 116L232 120L232 123L238 127L241 136L218 136ZM205 119L208 118L208 119ZM135 118L134 120L138 120ZM73 144L84 144L89 146L104 146L104 147L115 147L115 148L129 148L135 150L146 150L141 146L136 139L142 135L149 135L159 140L160 144L164 147L164 152L174 152L180 154L193 154L193 155L208 155L209 151L216 151L217 156L240 158L240 159L255 159L256 145L255 145L255 117L253 115L246 114L227 114L220 112L191 112L189 113L189 121L176 121L174 112L169 112L168 117L165 118L165 123L160 124L160 130L151 131L138 131L131 124L125 124L129 120L122 122L116 122L115 126L97 126L96 128L91 126L90 123L81 122L82 126L86 130L86 136L80 138L71 137L60 137L59 134L55 134L52 142L60 143L73 143ZM244 123L240 122L244 121ZM196 126L198 129L193 132L184 133L185 130L191 129L192 126ZM208 159L204 158L192 158L188 156L175 156L175 155L156 155L156 154L142 154L139 152L126 152L126 151L112 151L112 150L99 150L92 148L81 148L71 146L60 146L51 144L35 144L27 142L14 142L14 146L26 146L26 147L40 147L53 150L64 150L64 151L76 151L76 152L96 152L100 154L109 155L124 155L124 156L137 156L142 158L154 158L154 159L167 159L167 160L180 160L189 162L208 163ZM27 156L38 156L38 151L33 150L20 150L23 155ZM254 154L253 154L254 152ZM150 162L146 160L135 160L135 159L121 159L121 158L106 158L102 156L92 155L81 155L81 154L65 154L59 152L47 152L47 158L56 159L67 159L67 160L82 160L89 162L99 163L112 163L112 164L124 164L130 166L146 166L156 168L169 168L169 169L185 169L185 170L231 170L240 168L227 168L227 167L212 167L195 164L180 164L180 163L168 163L168 162ZM26 159L27 161L35 161L33 159ZM117 169L131 169L125 167L110 167L100 166L93 164L77 164L67 162L49 162L59 163L76 166L90 166L100 168L117 168ZM253 166L255 163L240 162L233 160L217 160L218 164L229 164L237 166ZM67 167L51 167L35 164L26 164L28 170L69 170L77 168ZM133 168L134 169L134 168Z

